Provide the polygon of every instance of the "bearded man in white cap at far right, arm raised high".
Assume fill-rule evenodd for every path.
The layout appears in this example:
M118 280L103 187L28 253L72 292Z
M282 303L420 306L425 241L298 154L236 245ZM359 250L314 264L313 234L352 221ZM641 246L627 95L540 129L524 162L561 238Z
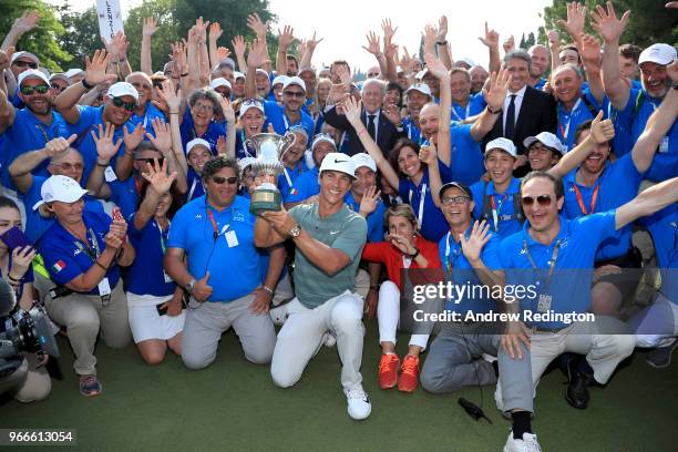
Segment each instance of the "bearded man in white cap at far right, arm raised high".
M594 29L605 40L603 51L603 83L612 106L616 110L617 138L613 143L615 154L628 153L645 130L653 112L659 106L671 84L678 82L676 49L669 44L653 44L640 53L640 82L643 89L634 89L624 82L619 70L619 35L624 32L630 11L617 19L612 2L607 11L597 7L593 12ZM671 64L672 62L672 64ZM659 152L645 178L659 182L678 175L678 126L672 126L659 143Z

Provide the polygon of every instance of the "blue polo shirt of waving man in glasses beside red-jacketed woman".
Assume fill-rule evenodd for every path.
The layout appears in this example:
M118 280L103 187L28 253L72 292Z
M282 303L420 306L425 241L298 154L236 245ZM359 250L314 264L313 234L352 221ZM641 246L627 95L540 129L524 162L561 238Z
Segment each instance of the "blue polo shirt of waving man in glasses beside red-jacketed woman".
M472 229L473 224L471 224L464 233L466 238L471 237ZM501 242L497 235L491 233L490 240L481 250L481 259L490 270L500 270L503 268L500 259ZM438 251L448 282L452 282L455 286L482 285L473 266L469 263L466 256L464 256L461 243L455 242L452 237L452 232L449 230L440 240L438 244ZM482 294L477 297L466 296L461 299L456 299L456 297L448 299L445 302L445 310L459 312L462 318L469 311L484 314L496 310L496 302L492 298L484 297L484 295L486 294Z

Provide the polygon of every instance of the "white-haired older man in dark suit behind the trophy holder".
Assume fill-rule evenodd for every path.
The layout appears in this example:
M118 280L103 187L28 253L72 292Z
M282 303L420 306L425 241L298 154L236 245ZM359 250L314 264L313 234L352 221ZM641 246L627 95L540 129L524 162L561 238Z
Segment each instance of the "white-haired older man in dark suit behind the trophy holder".
M386 84L377 79L370 79L364 82L361 91L362 97L362 123L368 133L377 142L383 155L388 157L389 152L396 145L396 142L405 136L404 127L400 115L396 113L393 124L387 112L381 109L383 96L386 94ZM394 111L397 112L397 110ZM337 112L337 106L330 106L325 112L325 122L340 131L346 132L340 151L348 155L355 155L364 152L362 143L356 134L356 130L349 124L346 116Z

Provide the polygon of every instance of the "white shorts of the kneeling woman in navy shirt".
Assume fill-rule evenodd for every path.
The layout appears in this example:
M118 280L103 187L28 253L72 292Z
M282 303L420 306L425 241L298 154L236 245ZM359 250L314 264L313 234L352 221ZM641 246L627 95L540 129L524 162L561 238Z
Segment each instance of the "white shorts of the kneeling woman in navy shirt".
M186 310L178 316L161 316L157 312L157 305L172 299L172 295L166 297L155 297L153 295L136 295L127 292L127 310L130 312L130 329L134 343L144 340L157 339L168 340L182 332Z

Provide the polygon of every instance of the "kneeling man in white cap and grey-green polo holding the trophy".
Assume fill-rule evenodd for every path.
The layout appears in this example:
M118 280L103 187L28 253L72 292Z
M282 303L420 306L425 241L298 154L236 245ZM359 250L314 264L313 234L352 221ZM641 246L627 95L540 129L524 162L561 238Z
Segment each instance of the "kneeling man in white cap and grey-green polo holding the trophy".
M288 305L289 317L278 333L270 368L274 383L281 388L294 386L320 348L325 333L331 331L342 363L341 386L348 413L362 420L370 415L371 404L360 374L363 302L355 285L367 223L343 203L355 173L356 165L347 155L329 153L320 165L318 203L286 212L274 207L276 196L270 196L270 188L261 184L253 192L251 209L258 215L256 246L267 248L288 238L296 245L297 297Z

